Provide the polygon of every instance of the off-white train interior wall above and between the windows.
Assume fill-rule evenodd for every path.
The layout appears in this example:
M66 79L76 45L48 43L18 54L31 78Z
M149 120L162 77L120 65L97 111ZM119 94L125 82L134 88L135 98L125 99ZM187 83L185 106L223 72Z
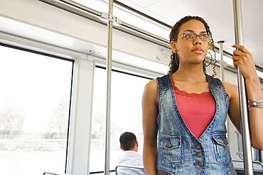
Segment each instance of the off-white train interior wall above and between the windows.
M0 9L1 43L75 61L67 172L86 174L90 169L93 84L98 81L94 72L95 65L105 67L107 26L35 0L0 1ZM114 69L159 77L166 74L170 54L166 47L113 30ZM217 72L220 78L219 67ZM237 85L237 74L225 70L225 81ZM240 159L237 130L229 120L227 128L232 158Z

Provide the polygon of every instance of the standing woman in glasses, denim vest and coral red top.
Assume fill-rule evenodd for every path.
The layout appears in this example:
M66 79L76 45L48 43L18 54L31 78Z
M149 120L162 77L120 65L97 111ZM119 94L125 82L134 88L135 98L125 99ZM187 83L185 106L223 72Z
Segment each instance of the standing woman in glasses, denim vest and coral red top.
M171 29L170 44L169 74L146 84L142 99L145 172L235 174L225 120L228 113L240 131L238 91L205 74L205 56L215 47L208 24L198 16L182 18ZM232 59L245 77L248 100L262 103L252 54L232 47L238 49ZM252 146L263 149L263 109L249 108L249 118Z

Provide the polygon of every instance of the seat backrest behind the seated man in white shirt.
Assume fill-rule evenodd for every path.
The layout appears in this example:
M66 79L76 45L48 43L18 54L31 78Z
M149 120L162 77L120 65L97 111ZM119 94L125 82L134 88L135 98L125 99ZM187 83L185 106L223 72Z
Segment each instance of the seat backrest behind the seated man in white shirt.
M115 168L116 175L144 175L144 169L137 166L118 165Z

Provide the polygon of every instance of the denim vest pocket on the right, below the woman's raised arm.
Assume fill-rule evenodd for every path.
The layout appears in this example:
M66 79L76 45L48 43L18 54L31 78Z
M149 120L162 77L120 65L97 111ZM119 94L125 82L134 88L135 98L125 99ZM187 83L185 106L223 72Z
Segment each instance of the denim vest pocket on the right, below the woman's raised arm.
M230 151L228 148L227 137L224 134L215 134L213 137L213 145L215 158L221 164L229 164L231 162Z

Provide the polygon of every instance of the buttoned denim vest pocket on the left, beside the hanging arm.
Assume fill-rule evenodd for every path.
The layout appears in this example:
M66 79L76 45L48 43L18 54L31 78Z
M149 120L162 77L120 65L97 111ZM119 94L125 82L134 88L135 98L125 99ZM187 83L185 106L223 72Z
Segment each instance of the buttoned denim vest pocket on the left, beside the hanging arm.
M164 136L159 139L162 163L168 166L183 164L181 136Z

